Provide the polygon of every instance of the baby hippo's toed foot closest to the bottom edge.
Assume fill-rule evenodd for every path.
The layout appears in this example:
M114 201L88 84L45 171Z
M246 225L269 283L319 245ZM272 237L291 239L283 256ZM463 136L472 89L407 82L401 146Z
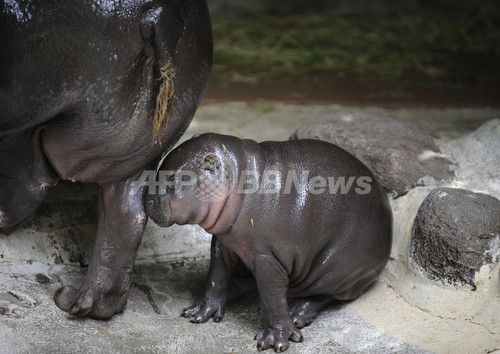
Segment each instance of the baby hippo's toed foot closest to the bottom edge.
M255 336L259 351L274 348L276 353L288 349L289 339L292 342L302 342L302 333L294 326L292 321L280 321L272 327L267 327Z

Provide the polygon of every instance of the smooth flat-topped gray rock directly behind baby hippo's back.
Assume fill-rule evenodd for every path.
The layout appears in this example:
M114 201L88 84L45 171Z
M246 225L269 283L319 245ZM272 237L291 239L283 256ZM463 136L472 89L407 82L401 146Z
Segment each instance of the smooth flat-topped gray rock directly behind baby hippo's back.
M451 180L450 162L436 146L438 137L414 125L363 113L320 117L297 129L290 139L319 139L336 144L363 161L394 196L417 185Z

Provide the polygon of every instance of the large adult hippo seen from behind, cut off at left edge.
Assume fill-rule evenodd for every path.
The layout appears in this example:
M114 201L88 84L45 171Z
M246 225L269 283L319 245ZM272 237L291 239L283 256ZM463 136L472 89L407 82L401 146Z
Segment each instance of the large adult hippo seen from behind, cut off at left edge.
M187 128L208 79L206 2L3 0L0 16L0 230L59 179L98 183L87 278L55 300L109 318L125 307L147 220L131 183Z

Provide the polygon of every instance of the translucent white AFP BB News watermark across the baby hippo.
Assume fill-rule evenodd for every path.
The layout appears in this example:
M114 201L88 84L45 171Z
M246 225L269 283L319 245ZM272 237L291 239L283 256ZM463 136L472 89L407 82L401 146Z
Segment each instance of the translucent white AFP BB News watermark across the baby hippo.
M289 170L283 173L277 170L240 171L239 175L228 173L181 171L144 171L134 182L138 190L147 187L149 194L180 195L194 191L201 199L221 199L230 193L240 194L369 194L373 178L370 176L310 176L308 171ZM237 177L237 178L235 178Z

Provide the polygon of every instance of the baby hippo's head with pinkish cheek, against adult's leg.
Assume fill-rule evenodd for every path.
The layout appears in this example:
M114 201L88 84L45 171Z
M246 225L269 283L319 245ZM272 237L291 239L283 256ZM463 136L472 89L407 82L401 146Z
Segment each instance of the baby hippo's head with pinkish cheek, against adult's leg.
M201 224L229 194L221 151L194 137L170 152L146 195L147 215L159 226ZM149 182L151 183L151 181Z

